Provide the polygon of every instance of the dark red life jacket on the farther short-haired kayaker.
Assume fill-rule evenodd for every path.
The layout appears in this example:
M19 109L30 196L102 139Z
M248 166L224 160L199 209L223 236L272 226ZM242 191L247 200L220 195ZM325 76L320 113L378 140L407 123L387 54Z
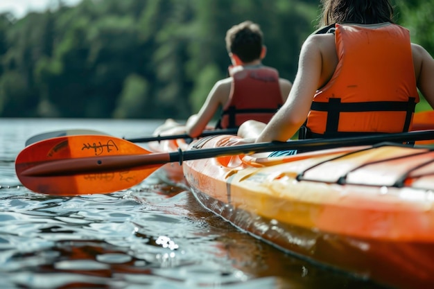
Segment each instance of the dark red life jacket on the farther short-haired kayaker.
M216 128L238 128L248 120L268 123L283 104L277 70L235 67L229 75L231 91Z

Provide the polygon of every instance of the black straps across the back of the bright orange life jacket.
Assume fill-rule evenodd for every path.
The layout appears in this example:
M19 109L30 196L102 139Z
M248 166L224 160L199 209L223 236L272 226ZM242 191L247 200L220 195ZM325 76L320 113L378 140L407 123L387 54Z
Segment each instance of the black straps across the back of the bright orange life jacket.
M313 102L311 110L327 112L327 124L324 134L316 134L306 128L299 132L300 137L305 139L331 138L331 137L355 137L376 134L375 132L338 132L340 112L406 112L406 120L402 131L408 132L410 129L411 116L415 112L416 98L408 98L404 101L371 101L363 103L341 103L340 98L330 98L328 103ZM384 133L384 132L378 132Z

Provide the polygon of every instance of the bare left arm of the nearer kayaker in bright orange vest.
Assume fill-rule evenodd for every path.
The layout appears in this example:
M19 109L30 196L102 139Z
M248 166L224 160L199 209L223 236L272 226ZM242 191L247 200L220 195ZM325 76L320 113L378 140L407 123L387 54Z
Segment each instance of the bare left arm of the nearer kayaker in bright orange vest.
M306 121L322 69L321 37L318 36L322 35L312 35L304 42L297 76L288 99L259 134L256 142L287 141Z

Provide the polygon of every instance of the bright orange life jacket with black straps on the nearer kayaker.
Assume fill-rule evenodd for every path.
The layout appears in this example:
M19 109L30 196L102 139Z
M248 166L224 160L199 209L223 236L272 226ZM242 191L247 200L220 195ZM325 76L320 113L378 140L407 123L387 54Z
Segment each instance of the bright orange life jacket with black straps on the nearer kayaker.
M300 138L408 132L419 102L409 31L336 24L334 33L338 65L316 91Z

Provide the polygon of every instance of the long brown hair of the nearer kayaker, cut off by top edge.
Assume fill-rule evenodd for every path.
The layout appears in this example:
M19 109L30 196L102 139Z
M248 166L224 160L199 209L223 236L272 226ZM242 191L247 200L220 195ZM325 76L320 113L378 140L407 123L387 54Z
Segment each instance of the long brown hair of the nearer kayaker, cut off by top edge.
M389 0L321 0L321 3L320 26L393 22L393 7Z

